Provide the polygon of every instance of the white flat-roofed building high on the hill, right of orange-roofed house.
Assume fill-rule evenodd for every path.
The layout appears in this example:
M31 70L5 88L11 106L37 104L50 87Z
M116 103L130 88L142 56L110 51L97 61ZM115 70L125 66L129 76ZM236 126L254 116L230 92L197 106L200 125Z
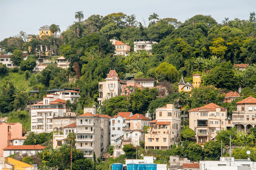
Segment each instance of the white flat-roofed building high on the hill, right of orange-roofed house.
M150 50L152 50L152 44L158 43L156 41L157 41L157 39L134 40L134 52L137 52L139 50L146 50L147 52L150 52Z

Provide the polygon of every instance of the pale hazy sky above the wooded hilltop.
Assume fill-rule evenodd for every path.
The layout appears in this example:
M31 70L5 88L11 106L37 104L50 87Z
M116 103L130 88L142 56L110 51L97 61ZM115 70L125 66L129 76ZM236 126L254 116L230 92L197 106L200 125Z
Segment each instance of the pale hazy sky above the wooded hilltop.
M256 12L256 0L0 0L0 41L20 31L38 35L44 25L59 25L63 32L77 21L78 11L84 19L94 14L134 14L146 26L153 13L182 23L198 14L210 15L221 23L224 18L248 20L250 12Z

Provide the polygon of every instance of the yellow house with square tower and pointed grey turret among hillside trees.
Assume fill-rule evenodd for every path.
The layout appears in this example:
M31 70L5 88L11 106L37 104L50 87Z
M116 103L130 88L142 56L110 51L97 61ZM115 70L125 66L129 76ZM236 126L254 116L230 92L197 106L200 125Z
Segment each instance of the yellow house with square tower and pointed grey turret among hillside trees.
M196 73L193 74L193 83L187 82L186 84L184 83L183 76L181 76L180 83L178 83L178 91L184 91L184 92L190 92L192 89L195 87L199 87L202 83L202 75Z

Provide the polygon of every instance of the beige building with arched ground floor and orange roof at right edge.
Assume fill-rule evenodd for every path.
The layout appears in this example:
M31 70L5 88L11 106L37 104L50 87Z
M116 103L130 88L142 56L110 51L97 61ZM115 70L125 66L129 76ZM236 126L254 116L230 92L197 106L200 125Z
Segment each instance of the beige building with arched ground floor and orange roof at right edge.
M236 103L237 111L232 111L232 124L238 131L247 132L255 127L256 99L252 96L247 97Z

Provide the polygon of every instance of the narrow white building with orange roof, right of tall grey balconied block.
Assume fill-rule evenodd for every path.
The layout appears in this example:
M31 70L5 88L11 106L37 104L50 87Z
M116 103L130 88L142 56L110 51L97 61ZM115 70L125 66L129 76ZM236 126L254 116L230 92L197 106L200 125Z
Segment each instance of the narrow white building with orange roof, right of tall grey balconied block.
M110 144L120 145L122 136L124 136L123 129L126 127L126 119L132 116L132 112L118 112L114 118L110 119Z

